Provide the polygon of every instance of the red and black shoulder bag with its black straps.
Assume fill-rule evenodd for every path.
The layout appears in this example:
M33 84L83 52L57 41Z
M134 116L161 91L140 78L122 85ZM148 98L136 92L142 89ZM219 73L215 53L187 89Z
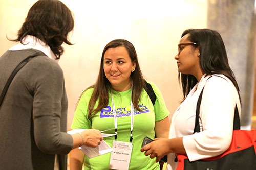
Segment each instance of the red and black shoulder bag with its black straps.
M197 102L194 133L200 132L199 109L203 95L202 89ZM234 111L233 137L230 147L221 155L190 162L184 154L177 154L176 170L256 170L256 130L240 130L238 108Z

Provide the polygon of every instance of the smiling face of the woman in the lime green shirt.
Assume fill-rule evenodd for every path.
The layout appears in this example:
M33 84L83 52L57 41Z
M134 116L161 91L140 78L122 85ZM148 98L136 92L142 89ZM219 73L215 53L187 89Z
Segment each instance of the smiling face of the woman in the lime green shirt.
M124 46L109 48L103 59L103 69L111 87L116 91L126 91L131 88L131 72L135 70L135 61L132 62Z

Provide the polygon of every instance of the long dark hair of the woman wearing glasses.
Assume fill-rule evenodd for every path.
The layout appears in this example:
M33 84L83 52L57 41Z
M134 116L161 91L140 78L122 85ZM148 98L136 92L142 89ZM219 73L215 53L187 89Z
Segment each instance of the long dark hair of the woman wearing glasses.
M226 48L221 35L217 31L210 29L187 29L182 33L181 37L186 34L189 34L188 39L191 42L197 43L197 46L199 46L200 67L205 74L225 75L232 81L239 94L238 83L228 64ZM182 84L184 101L190 90L198 81L193 75L185 75L179 72L179 82Z

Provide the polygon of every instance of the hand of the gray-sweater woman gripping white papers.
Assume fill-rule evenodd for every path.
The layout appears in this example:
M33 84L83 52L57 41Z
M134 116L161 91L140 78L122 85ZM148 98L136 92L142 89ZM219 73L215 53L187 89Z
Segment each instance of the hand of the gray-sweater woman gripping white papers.
M87 147L97 147L100 144L100 141L103 140L101 133L97 129L87 129L81 132L83 136L83 145Z

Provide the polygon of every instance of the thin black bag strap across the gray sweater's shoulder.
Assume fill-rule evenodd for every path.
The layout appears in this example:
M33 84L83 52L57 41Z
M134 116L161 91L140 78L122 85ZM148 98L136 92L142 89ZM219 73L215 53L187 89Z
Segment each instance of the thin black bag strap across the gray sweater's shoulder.
M9 88L11 82L12 82L12 79L14 78L14 76L17 74L17 72L18 72L24 65L26 65L26 64L29 62L29 60L30 60L31 58L33 58L33 57L35 57L35 56L38 56L38 55L44 55L44 54L43 54L43 53L36 53L36 54L33 54L33 55L28 56L28 57L25 58L22 62L20 62L20 63L16 66L16 68L12 71L12 74L11 74L10 77L8 78L6 84L5 84L4 88L3 88L3 91L2 91L2 93L1 93L1 95L0 95L0 107L1 107L2 102L4 101L5 94L6 94L7 90L8 90L8 88Z

